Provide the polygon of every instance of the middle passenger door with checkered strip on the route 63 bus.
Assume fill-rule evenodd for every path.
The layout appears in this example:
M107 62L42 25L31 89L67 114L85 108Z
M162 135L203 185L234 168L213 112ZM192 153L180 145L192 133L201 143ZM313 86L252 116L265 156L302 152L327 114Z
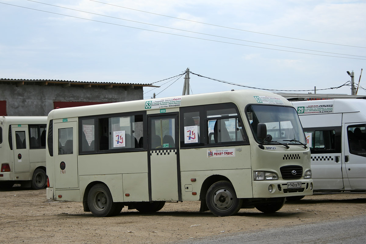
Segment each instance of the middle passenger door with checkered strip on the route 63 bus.
M149 191L153 201L178 201L178 113L149 116Z

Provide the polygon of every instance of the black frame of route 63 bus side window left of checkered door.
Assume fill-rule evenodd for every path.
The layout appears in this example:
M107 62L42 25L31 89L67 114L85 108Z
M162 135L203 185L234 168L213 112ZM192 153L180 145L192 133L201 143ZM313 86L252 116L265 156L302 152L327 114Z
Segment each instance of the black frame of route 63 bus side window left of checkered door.
M100 150L100 119L108 119L112 117L126 117L126 116L142 116L142 137L143 137L143 147L139 148L118 148L118 149L107 149ZM82 121L83 120L94 120L94 150L82 151ZM109 126L109 125L108 125ZM137 139L137 138L136 138ZM124 112L124 113L110 113L104 115L91 115L78 117L78 155L88 155L88 154L107 154L107 153L124 153L124 152L137 152L137 151L147 151L147 116L145 111L138 112Z

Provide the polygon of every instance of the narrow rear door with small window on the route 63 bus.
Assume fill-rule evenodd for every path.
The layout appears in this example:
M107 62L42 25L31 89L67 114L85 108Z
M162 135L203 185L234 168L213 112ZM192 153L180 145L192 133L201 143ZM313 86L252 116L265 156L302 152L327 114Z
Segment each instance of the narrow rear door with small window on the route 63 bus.
M55 123L54 135L56 188L78 188L77 122Z

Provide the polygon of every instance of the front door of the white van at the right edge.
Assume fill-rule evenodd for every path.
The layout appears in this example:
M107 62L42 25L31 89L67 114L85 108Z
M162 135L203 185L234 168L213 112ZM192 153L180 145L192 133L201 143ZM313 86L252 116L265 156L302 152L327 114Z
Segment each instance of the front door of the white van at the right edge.
M366 189L365 124L344 124L344 135L344 161L351 189Z

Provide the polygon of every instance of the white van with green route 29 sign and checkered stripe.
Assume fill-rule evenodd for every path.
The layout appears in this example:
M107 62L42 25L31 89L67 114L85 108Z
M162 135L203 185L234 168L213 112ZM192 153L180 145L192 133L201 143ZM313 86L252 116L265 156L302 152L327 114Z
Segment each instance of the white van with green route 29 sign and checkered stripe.
M366 100L292 104L311 145L314 191L366 191Z

